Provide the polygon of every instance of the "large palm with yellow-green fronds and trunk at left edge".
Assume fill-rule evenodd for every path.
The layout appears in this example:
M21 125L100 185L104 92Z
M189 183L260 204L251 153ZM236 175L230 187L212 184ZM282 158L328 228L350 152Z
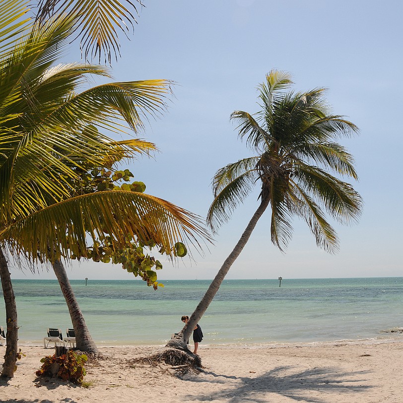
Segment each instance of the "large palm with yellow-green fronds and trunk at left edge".
M109 83L77 93L85 75L108 72L98 66L54 66L73 31L72 19L31 26L19 41L14 35L12 43L22 11L18 2L11 3L14 8L10 5L0 25L0 277L7 322L3 377L12 377L17 355L17 314L4 248L17 260L54 264L70 255L86 258L88 237L95 245L109 242L116 249L127 246L128 235L154 240L172 258L177 241L198 246L199 237L208 238L197 216L150 195L120 190L71 196L83 162L103 166L106 155L118 160L149 148L150 143L130 140L117 148L97 127L137 131L143 114L164 108L169 82ZM0 9L4 4L8 1L0 0Z

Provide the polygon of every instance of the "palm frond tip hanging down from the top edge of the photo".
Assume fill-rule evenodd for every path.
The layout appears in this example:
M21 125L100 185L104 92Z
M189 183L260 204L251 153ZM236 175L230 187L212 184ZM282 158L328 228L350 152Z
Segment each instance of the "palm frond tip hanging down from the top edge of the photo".
M140 0L136 0L143 6ZM96 58L105 55L105 63L111 55L120 54L118 31L127 36L128 26L134 30L137 7L130 0L41 0L37 19L46 21L49 16L69 13L78 16L77 37L81 39L83 57Z

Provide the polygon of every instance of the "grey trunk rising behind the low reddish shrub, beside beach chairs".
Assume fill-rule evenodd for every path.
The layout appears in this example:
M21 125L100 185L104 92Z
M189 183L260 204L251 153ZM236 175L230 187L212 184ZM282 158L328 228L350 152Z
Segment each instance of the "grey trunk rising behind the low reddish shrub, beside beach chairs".
M82 316L81 309L78 305L73 289L68 280L67 273L63 263L56 260L52 265L58 278L60 288L62 289L63 296L65 297L68 312L70 313L71 323L75 333L75 345L78 350L91 353L98 353L98 348L94 343L91 335L89 334L87 325L85 324L84 317Z

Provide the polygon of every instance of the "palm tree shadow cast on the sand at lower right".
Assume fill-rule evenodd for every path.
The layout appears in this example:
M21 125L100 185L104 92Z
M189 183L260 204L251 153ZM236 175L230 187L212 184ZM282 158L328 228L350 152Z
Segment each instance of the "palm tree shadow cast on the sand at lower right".
M321 399L311 396L309 391L319 391L321 394L329 393L359 393L364 392L372 386L365 385L366 379L363 375L370 371L356 372L340 372L336 368L313 368L300 372L287 371L292 370L295 366L279 366L261 376L255 378L234 377L226 375L218 375L214 372L204 372L216 379L210 382L228 385L229 379L236 380L236 384L232 384L225 389L208 393L205 395L192 396L197 400L225 400L225 402L256 402L266 403L267 397L265 393L276 393L278 395L293 399L294 401L304 401L313 403L329 402L328 399ZM358 378L359 377L359 378ZM193 382L206 382L205 379L193 378ZM323 395L325 398L325 395Z

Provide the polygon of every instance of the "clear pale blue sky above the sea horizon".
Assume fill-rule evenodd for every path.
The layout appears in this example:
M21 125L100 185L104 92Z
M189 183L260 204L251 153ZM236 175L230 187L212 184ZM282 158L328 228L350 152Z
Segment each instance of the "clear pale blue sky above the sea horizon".
M154 158L129 165L146 193L205 217L211 178L231 162L251 156L229 116L255 113L256 87L271 69L292 74L293 88L328 88L333 112L360 134L343 138L356 160L364 200L358 224L336 225L340 251L317 248L307 225L294 221L285 253L270 243L266 212L227 278L402 276L403 2L371 0L143 0L114 80L175 82L169 108L150 119L140 136L156 143ZM64 62L80 61L78 43ZM94 82L97 83L96 81ZM126 167L126 166L125 166ZM258 207L259 186L214 235L214 245L194 260L162 259L160 279L210 279L232 251ZM56 278L11 268L12 278ZM121 266L82 262L67 267L71 279L132 279Z

